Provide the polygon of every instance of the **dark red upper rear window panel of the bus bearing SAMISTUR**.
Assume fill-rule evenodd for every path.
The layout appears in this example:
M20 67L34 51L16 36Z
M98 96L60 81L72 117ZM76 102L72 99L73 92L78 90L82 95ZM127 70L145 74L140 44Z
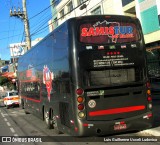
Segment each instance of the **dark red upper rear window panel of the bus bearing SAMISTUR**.
M140 39L134 22L94 20L80 25L80 42L108 44L135 42Z

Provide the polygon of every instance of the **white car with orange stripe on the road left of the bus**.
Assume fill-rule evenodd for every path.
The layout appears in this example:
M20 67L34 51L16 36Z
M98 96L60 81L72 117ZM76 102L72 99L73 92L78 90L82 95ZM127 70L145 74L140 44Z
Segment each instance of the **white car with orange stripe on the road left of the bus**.
M4 97L4 105L7 109L11 106L19 106L19 96L17 91L7 91Z

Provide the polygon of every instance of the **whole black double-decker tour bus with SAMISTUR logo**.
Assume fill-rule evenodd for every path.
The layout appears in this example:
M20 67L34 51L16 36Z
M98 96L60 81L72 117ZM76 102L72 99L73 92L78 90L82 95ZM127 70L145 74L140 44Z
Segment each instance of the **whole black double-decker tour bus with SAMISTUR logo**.
M138 19L98 15L67 20L18 61L26 113L76 136L152 126L152 97Z

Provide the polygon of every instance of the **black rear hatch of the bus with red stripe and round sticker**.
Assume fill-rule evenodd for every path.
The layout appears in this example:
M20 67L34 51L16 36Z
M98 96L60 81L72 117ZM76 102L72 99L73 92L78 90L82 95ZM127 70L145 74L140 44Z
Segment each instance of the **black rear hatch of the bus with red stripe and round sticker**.
M145 90L145 85L86 90L87 120L109 121L145 113Z

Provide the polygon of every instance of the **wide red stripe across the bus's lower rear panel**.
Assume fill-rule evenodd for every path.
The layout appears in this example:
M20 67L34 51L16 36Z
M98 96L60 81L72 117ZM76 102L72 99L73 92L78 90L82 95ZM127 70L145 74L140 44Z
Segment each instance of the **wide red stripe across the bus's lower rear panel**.
M119 114L119 113L133 112L133 111L139 111L139 110L144 110L144 109L145 109L144 105L123 107L123 108L114 108L114 109L107 109L107 110L89 112L89 116Z

